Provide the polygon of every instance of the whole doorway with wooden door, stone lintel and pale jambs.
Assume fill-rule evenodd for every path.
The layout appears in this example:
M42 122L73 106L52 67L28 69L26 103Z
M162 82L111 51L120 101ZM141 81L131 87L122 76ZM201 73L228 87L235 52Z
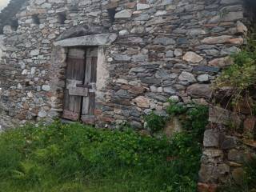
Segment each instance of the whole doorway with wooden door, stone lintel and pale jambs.
M70 72L71 74L65 76L62 118L94 125L101 115L98 109L102 107L102 101L106 99L106 83L110 77L105 56L106 50L118 38L118 35L114 33L88 34L75 37L81 31L80 28L67 30L57 42L54 42L52 62L58 70L60 66L63 66L67 73L69 73L68 70L76 71L76 74ZM86 29L83 27L82 29L85 33ZM88 64L89 61L90 64ZM77 64L72 66L72 63ZM91 69L88 70L90 74L86 75L89 73L86 69ZM56 79L58 78L53 78L52 81L58 83Z

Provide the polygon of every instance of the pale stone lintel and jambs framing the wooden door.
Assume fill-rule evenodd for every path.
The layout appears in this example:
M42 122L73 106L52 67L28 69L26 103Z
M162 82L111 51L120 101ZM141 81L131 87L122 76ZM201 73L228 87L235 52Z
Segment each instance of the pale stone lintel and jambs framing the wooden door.
M55 66L66 66L66 55L70 47L82 47L86 50L89 47L98 47L98 62L97 62L97 80L95 91L95 109L97 110L97 102L102 102L106 95L106 82L109 78L109 71L106 63L106 47L110 46L118 38L117 34L90 34L78 38L67 38L58 42L54 42L53 58L60 55L60 59L53 59ZM66 77L66 76L65 76ZM63 87L63 91L65 86ZM64 101L64 98L63 98ZM63 105L63 104L62 104ZM62 107L63 108L63 107ZM84 122L94 124L95 118L87 118Z

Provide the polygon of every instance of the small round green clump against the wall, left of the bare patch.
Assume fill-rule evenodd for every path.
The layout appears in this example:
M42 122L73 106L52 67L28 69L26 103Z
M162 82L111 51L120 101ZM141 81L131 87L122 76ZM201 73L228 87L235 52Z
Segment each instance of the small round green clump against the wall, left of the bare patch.
M162 130L166 125L166 119L158 114L154 114L152 111L150 114L145 116L146 126L152 132Z

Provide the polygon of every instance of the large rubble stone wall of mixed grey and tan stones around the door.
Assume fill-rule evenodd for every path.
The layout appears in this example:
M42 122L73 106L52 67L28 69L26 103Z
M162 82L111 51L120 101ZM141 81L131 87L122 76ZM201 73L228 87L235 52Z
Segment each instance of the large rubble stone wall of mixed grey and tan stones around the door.
M243 13L242 0L27 1L18 28L4 28L0 115L22 123L60 117L66 66L58 61L66 53L53 43L76 26L118 34L101 47L98 125L142 127L142 115L166 115L170 96L206 103L210 82L230 64L226 56L244 42Z

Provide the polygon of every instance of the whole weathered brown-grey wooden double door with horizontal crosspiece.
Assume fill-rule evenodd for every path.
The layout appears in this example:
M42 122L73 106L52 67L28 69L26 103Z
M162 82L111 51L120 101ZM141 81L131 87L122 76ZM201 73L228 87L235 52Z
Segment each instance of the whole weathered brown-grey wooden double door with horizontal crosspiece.
M94 123L97 54L97 48L69 50L63 118Z

